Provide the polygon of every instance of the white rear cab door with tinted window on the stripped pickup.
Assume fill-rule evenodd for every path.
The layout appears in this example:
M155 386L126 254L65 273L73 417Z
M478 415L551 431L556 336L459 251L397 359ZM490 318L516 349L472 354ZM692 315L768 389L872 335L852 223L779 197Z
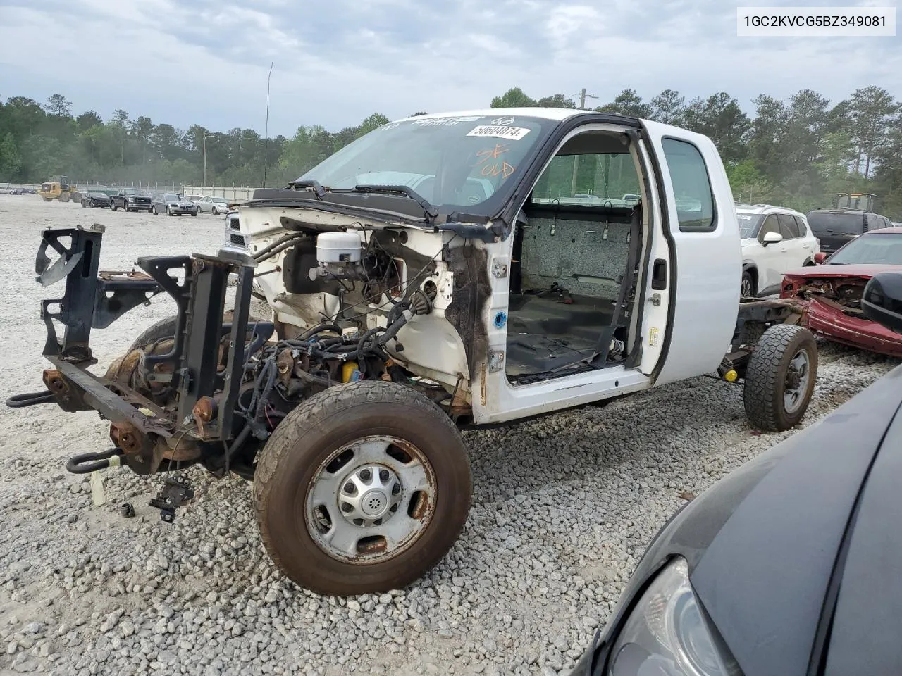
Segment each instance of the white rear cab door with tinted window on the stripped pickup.
M666 124L643 126L657 159L671 255L660 356L653 368L645 360L641 367L663 384L720 365L739 312L742 254L732 189L713 142Z

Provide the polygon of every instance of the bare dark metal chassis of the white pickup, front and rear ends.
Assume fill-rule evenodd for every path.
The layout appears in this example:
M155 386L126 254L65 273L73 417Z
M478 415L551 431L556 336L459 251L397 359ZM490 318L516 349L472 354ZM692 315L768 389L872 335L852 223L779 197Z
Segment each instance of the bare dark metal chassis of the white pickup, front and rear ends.
M45 230L35 271L43 286L66 280L62 297L44 300L41 317L47 327L43 354L53 368L44 370L46 391L11 397L7 404L26 407L55 402L65 411L97 410L111 423L115 449L88 453L69 462L69 470L99 469L112 454L139 474L168 470L180 464L205 461L209 469L221 469L240 445L235 441L234 411L239 397L246 351L270 339L271 322L250 327L248 316L253 288L253 259L222 250L215 257L143 257L141 271L98 270L104 227L93 225ZM63 240L69 240L68 246ZM51 265L48 249L60 254ZM173 275L178 274L180 279ZM226 289L235 274L234 316L224 324ZM97 363L88 346L92 328L104 328L135 306L166 292L177 306L174 343L164 354L143 354L137 365L143 379L166 383L176 393L174 406L163 409L119 380L97 376L88 367ZM797 324L800 307L791 300L748 300L741 303L732 340L719 375L728 381L745 376L754 345L769 324ZM62 324L62 336L54 322ZM219 346L229 333L226 369ZM235 350L242 345L245 352ZM155 368L160 365L165 368ZM216 392L218 415L198 416ZM202 401L204 400L204 401ZM198 405L199 402L199 405ZM200 418L200 419L198 419ZM225 449L225 450L224 450ZM167 464L164 461L169 460ZM176 465L178 466L178 464Z

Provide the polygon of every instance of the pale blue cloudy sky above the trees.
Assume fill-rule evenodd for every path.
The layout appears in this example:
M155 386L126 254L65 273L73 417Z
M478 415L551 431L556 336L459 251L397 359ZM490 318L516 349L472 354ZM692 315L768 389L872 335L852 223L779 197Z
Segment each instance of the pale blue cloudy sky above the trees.
M587 87L593 105L625 87L646 100L667 87L687 100L726 91L752 112L759 93L805 87L834 101L868 85L902 98L900 46L740 38L723 0L0 0L0 98L59 92L104 119L124 108L262 132L274 61L272 135L488 106L514 86L537 98Z

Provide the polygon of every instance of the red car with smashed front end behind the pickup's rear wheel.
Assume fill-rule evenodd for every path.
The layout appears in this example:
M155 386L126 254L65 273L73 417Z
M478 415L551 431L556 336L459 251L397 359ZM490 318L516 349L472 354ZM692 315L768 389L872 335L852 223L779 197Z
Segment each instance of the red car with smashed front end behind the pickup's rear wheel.
M879 272L902 270L902 227L861 234L831 255L815 255L818 265L790 270L781 298L805 306L802 324L836 343L902 357L902 334L893 333L861 312L864 285Z

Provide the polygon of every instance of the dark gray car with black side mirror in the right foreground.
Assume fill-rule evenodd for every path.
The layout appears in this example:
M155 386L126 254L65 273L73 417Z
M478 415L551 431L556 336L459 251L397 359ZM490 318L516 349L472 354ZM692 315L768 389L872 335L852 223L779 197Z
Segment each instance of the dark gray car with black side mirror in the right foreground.
M902 274L865 298L902 332ZM900 484L902 366L671 517L571 676L902 673Z

